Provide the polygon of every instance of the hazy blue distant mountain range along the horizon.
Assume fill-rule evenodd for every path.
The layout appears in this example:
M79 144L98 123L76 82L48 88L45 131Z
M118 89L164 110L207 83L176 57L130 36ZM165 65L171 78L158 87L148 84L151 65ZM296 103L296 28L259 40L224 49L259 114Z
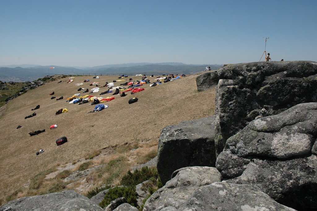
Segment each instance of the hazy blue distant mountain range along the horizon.
M206 66L210 66L212 70L217 70L222 65L187 65L177 62L165 63L127 63L116 65L102 65L95 67L65 67L65 66L41 66L41 65L8 65L0 66L1 81L32 81L47 75L54 74L78 74L78 75L94 75L96 74L146 74L146 75L162 75L162 74L192 74L204 71ZM54 67L54 69L49 69Z

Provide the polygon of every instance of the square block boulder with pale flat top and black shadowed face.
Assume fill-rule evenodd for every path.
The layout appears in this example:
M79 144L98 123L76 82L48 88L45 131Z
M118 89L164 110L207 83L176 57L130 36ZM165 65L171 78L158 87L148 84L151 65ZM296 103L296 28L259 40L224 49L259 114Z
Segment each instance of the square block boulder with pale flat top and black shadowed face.
M157 169L164 185L182 167L215 167L214 116L181 122L162 129Z

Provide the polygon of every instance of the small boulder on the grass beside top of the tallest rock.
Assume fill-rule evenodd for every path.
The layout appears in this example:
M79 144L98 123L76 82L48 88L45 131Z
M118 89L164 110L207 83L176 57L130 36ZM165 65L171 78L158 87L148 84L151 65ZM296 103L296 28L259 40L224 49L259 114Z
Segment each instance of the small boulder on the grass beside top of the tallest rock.
M219 81L217 72L218 71L210 71L197 76L197 91L205 91L213 86L216 86Z

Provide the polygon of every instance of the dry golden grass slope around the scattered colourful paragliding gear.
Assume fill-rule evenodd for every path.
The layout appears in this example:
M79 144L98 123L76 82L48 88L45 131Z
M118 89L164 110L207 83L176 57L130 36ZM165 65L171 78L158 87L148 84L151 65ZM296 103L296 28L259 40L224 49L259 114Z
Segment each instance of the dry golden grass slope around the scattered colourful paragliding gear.
M58 164L74 163L74 160L90 153L96 156L94 152L109 146L118 146L117 153L121 154L143 147L140 151L143 149L144 152L139 152L139 155L145 155L157 145L163 127L213 115L215 89L197 92L196 77L189 75L155 87L143 85L144 91L133 95L128 93L126 97L116 95L114 100L103 103L109 108L94 113L87 113L94 109L93 105L68 104L66 99L75 93L86 94L78 92L79 87L90 90L95 86L89 86L89 83L97 81L104 85L106 81L116 80L117 76L101 76L99 79L81 76L75 77L74 82L69 84L68 78L62 78L62 83L52 81L11 100L5 114L0 117L1 203L20 188L28 187L36 174ZM129 78L140 79L136 76ZM76 86L84 79L90 79L90 82ZM116 82L115 85L124 82ZM94 93L94 96L99 97L99 93L106 90L106 87L100 87L100 92ZM56 98L63 96L64 99L51 100L49 93L53 91ZM112 96L111 93L102 95L105 98L109 96ZM139 101L129 105L128 100L132 97L137 97ZM33 113L31 109L36 105L41 105L35 110L36 116L24 119ZM55 116L61 108L67 108L68 112ZM58 127L50 130L49 126L53 124ZM22 127L16 129L18 125ZM32 137L28 135L42 129L46 132ZM61 136L67 136L68 142L56 146L55 140ZM40 149L45 152L36 156ZM118 172L123 170L126 170L126 164L117 169ZM23 195L21 193L23 191L18 191L19 196Z

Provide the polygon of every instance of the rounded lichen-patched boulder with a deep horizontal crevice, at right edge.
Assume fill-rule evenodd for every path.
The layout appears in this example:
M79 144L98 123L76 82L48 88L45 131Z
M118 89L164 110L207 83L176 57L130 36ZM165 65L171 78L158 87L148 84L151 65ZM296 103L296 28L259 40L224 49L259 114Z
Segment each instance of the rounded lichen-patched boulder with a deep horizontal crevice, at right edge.
M277 202L317 210L317 103L253 120L230 137L216 167L227 182L256 184Z

